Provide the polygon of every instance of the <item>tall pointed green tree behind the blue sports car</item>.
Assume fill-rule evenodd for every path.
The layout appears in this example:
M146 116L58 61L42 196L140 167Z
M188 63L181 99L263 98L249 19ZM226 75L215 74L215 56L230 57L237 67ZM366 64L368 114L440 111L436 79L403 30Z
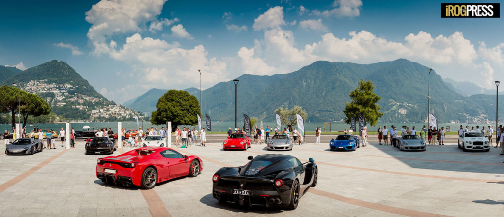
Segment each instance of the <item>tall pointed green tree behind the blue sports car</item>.
M352 121L352 115L357 118L359 113L364 116L366 122L369 122L371 126L375 126L378 119L383 116L384 113L380 112L381 107L376 105L382 98L373 93L373 89L374 86L371 80L364 82L364 80L360 79L359 86L350 92L352 102L347 102L343 110L347 124Z

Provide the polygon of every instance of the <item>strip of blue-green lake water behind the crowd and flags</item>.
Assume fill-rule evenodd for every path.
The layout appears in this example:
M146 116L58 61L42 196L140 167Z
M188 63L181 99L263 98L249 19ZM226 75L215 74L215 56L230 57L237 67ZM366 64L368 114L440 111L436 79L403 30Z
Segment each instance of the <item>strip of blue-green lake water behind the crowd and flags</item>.
M129 130L129 129L137 129L137 122L135 122L135 121L125 121L125 122L122 122L121 124L122 124L122 127L125 127L127 130ZM203 124L202 127L206 128L205 121L203 121L202 124ZM89 126L89 127L95 127L95 128L112 128L112 130L114 132L117 132L117 122L86 122L86 123L71 123L70 125L71 125L71 127L74 127L74 129L76 131L77 130L81 130L82 127L84 127L84 126ZM158 130L159 130L159 129L161 129L161 127L163 127L163 126L151 125L150 122L140 122L139 125L143 129L145 129L147 127L157 127ZM258 123L256 125L258 125L258 127L260 127L261 126L261 122L258 121ZM383 122L379 122L374 127L371 127L368 124L367 125L368 131L375 131L378 128L379 125L382 125L382 127L383 126L387 126L387 128L389 128L392 125L394 125L394 126L403 126L403 125L406 125L410 129L413 126L415 126L415 128L417 130L419 130L419 129L422 128L423 125L425 125L425 123L383 123ZM472 126L474 126L474 128L476 128L476 126L479 125L480 128L482 126L485 126L485 128L487 128L488 125L494 126L495 123L492 123L492 124L481 124L481 123L479 123L479 124L475 124L475 123L470 123L470 124L469 123L439 123L438 127L445 127L446 128L447 126L449 126L449 127L451 127L451 131L456 131L457 129L459 129L460 125L463 125L464 127L466 125L468 125L469 128L471 128ZM26 127L27 131L30 132L30 130L33 129L33 126L35 126L35 127L38 126L41 129L53 129L55 131L58 131L58 129L61 128L61 127L65 128L66 124L65 123L29 123L29 124L27 124L27 127ZM237 122L237 126L241 128L243 126L243 121L238 121ZM263 121L263 127L266 128L266 126L275 127L276 123L274 123L274 122L268 122L268 121ZM2 130L1 132L5 132L5 130L10 130L11 127L12 127L12 124L0 124L0 130ZM181 127L184 127L184 126L181 126ZM195 127L195 126L192 126L192 128L193 127ZM214 132L215 131L227 131L229 129L229 127L231 127L231 128L234 129L234 121L223 121L223 122L220 122L220 123L218 121L212 122L212 131L214 131ZM284 127L285 126L282 125L282 128L284 128ZM323 122L305 122L304 123L304 128L305 128L305 131L307 131L307 132L313 132L313 131L315 131L315 129L317 127L320 127L322 129L322 131L324 131L324 123ZM346 124L346 123L343 123L343 122L331 122L331 131L333 131L333 132L334 131L343 131L345 128L350 129L350 125ZM329 124L328 123L326 123L325 131L329 131Z

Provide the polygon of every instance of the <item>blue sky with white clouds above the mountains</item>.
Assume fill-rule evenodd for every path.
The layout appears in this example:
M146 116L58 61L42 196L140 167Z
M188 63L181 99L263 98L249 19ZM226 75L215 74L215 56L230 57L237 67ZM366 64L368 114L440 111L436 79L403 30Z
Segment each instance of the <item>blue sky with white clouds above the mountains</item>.
M62 60L116 103L151 88L199 88L198 70L206 89L317 60L406 58L493 89L504 81L503 18L440 17L442 3L474 2L4 1L0 65Z

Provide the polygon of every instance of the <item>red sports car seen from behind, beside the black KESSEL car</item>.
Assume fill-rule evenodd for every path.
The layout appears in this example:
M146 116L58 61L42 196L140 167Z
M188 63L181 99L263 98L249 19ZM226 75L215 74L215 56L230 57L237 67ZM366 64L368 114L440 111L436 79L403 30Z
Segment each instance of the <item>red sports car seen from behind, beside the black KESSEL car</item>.
M185 156L165 147L142 147L98 159L96 176L108 184L151 189L169 179L196 177L202 170L203 161L197 156Z

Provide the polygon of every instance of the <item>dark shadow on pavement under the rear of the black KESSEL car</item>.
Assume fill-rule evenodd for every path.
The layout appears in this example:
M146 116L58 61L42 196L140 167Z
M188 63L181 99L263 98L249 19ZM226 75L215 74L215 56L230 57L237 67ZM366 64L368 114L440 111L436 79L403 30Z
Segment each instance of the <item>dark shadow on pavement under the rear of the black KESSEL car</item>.
M215 198L212 197L212 194L207 194L200 199L200 202L206 204L207 206L212 206L214 208L220 208L225 210L230 210L233 212L243 212L243 213L280 213L283 212L279 208L274 207L249 207L249 206L238 206L232 205L225 202L219 202Z

